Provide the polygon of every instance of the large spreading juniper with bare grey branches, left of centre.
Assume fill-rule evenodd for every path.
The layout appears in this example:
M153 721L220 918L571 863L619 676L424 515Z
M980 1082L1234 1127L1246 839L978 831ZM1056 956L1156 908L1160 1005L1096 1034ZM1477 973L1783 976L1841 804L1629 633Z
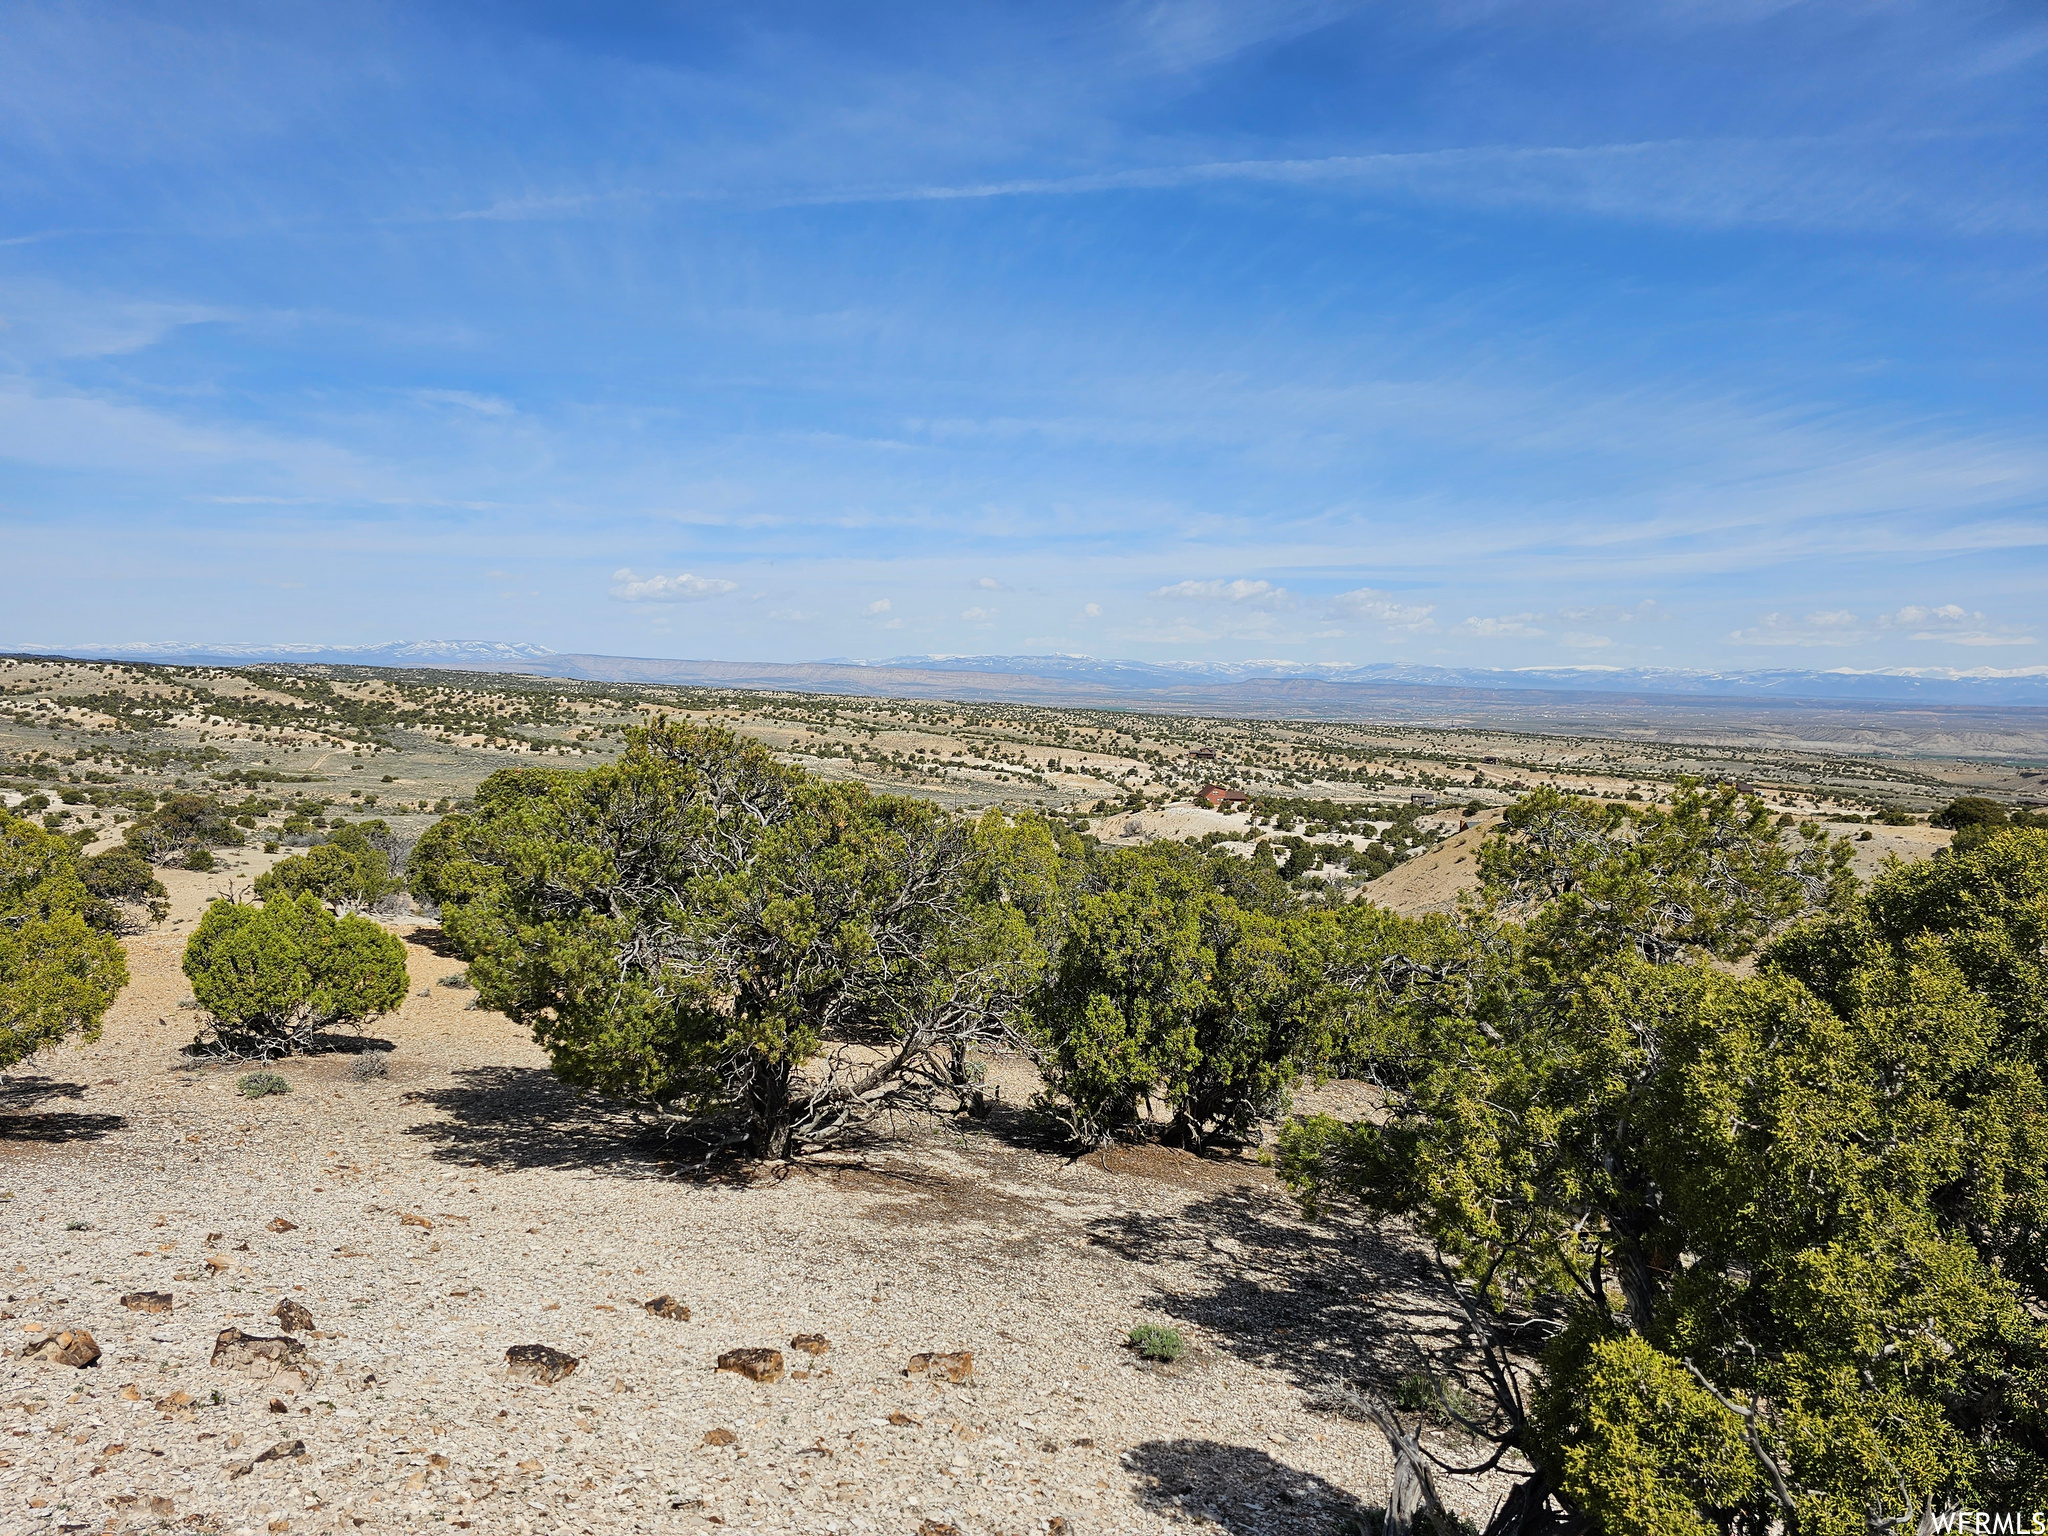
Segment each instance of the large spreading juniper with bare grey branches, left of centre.
M965 1044L1008 1032L1042 952L1006 887L1057 850L999 821L662 721L604 768L494 776L414 877L565 1081L784 1157L958 1090Z

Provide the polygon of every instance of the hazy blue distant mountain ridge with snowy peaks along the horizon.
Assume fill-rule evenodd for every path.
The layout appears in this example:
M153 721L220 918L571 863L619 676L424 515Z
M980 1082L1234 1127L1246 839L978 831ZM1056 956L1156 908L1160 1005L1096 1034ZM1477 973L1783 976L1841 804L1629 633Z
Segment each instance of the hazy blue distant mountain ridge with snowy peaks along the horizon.
M1130 662L1094 655L893 655L825 662L702 662L551 651L522 641L387 641L381 645L27 645L16 655L74 655L184 666L377 666L526 672L590 682L788 688L942 696L946 680L975 696L1018 702L1233 702L1255 713L1260 696L1296 713L1315 698L1364 702L1403 690L1485 694L1604 694L1784 702L2048 707L2048 666L2015 670L1890 668L1710 672L1686 668L1442 668L1415 662ZM967 682L973 678L975 682Z

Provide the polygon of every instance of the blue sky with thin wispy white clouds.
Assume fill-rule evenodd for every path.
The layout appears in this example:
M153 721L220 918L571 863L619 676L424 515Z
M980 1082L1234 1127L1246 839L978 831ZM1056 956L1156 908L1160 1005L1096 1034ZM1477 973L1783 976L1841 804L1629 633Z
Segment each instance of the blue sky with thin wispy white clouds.
M2038 4L12 4L0 645L2048 666Z

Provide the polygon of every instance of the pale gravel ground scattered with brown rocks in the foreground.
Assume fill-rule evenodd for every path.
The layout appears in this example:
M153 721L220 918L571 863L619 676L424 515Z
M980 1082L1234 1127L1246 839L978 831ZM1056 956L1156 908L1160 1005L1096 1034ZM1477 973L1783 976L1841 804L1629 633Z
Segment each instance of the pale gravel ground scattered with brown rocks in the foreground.
M182 1065L162 932L100 1044L0 1083L0 1528L1253 1536L1384 1499L1378 1434L1313 1403L1454 1348L1399 1235L1311 1229L1249 1161L1069 1161L1001 1108L692 1176L436 985L434 938L408 934L383 1079L309 1057L250 1102ZM209 1364L283 1298L313 1317L303 1378ZM1147 1321L1188 1356L1120 1348ZM57 1327L98 1364L16 1358ZM518 1343L580 1364L510 1380ZM786 1374L715 1368L745 1346ZM952 1350L967 1382L905 1374ZM1501 1489L1448 1493L1483 1520Z

